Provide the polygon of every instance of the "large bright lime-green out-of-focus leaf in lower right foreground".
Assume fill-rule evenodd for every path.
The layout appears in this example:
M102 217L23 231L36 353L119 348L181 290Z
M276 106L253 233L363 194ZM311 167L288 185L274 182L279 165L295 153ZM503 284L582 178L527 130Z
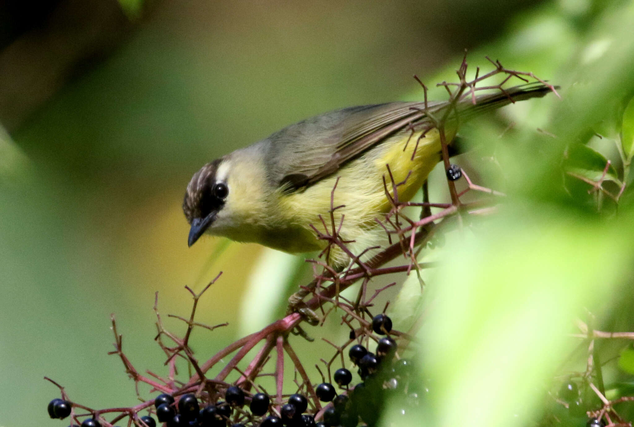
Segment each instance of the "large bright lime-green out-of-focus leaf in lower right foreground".
M631 245L616 229L516 208L448 245L426 290L420 360L438 385L432 425L508 427L538 416L544 385L574 345L562 337L629 269Z

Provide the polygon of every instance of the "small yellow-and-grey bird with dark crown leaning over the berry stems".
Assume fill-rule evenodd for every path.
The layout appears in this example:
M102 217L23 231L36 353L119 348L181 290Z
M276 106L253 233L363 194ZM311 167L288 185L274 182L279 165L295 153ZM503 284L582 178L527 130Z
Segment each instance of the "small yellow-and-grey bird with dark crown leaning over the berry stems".
M465 120L511 99L548 91L546 85L528 84L479 96L475 104L467 97L456 112ZM395 182L406 180L398 189L399 200L410 200L441 159L439 133L430 129L433 122L425 111L438 117L447 107L448 102L428 102L427 110L424 102L389 102L339 109L205 164L184 197L191 225L188 244L208 233L285 252L323 249L327 243L316 238L310 225L321 230L319 216L330 218L331 193L339 179L333 206L345 205L335 211L337 224L344 215L340 237L371 245L375 218L391 208L383 181L386 165ZM448 121L447 140L455 135L456 112ZM417 132L412 133L412 125ZM335 264L346 261L340 251L330 256Z

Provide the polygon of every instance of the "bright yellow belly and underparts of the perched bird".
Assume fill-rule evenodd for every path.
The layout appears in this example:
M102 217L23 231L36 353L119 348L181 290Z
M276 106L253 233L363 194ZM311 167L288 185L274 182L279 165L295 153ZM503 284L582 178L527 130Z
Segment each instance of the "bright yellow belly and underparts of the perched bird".
M323 218L332 232L330 219L330 197L333 194L333 206L342 206L334 212L335 226L343 222L340 235L344 240L355 240L359 244L371 245L366 235L377 226L376 218L391 209L385 196L384 180L389 192L393 192L391 179L386 168L389 164L395 183L404 182L397 189L399 201L409 201L427 179L430 171L440 159L441 151L438 132L431 130L420 141L420 133L409 138L396 135L392 139L377 145L363 156L354 159L333 176L329 176L302 192L282 195L280 214L282 223L300 226L311 230L311 224L320 232L325 232L319 216ZM448 135L448 137L451 137ZM411 173L410 173L411 172ZM337 182L339 178L339 182ZM325 241L317 241L312 233L302 233L293 239L292 244L275 242L274 246L287 252L307 252L323 248ZM285 249L288 246L288 249ZM292 247L291 247L292 246Z

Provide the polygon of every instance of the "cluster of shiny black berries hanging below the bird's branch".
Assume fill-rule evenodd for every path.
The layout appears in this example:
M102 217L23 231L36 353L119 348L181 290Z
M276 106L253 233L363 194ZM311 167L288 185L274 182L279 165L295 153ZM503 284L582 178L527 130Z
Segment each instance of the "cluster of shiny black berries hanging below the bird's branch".
M372 319L372 330L378 335L387 335L392 330L392 320L385 314L378 314ZM357 338L354 335L353 330L351 340ZM358 338L363 340L364 337L365 333ZM369 352L360 343L354 344L349 348L348 356L358 367L363 382L354 389L349 388L353 373L346 368L337 369L332 376L333 383L342 391L337 394L337 388L329 382L316 385L314 393L313 390L309 393L315 399L311 409L310 397L299 392L273 406L271 397L266 393L250 394L245 392L245 388L229 385L217 392L224 401L216 402L209 402L209 394L205 393L200 396L177 394L176 397L163 393L152 402L151 412L159 423L165 423L165 427L356 427L359 419L373 425L382 409L382 396L396 390L407 390L399 387L399 383L407 383L411 364L406 359L394 361L396 350L396 342L389 336L378 340L376 353ZM328 404L320 410L316 400ZM249 405L250 411L243 409L245 404ZM48 412L51 418L65 418L71 407L67 400L54 399L48 405ZM315 416L321 419L319 423L316 423ZM157 426L152 416L135 415L133 419L139 427ZM101 424L93 414L92 418L84 419L81 427L101 427Z

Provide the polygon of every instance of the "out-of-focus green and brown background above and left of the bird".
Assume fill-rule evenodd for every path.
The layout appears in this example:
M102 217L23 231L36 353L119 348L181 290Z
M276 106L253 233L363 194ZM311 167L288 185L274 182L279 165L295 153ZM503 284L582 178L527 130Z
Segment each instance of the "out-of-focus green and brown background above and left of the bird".
M187 315L184 285L224 272L198 319L230 326L199 337L200 354L278 313L245 311L245 290L288 256L220 238L187 247L181 202L202 164L330 109L422 99L412 75L451 78L465 48L562 82L602 40L590 39L597 22L628 4L1 3L0 426L57 422L44 375L86 405L133 404L133 382L107 356L110 314L138 369L160 371L155 292L162 313ZM283 306L285 292L270 293Z

